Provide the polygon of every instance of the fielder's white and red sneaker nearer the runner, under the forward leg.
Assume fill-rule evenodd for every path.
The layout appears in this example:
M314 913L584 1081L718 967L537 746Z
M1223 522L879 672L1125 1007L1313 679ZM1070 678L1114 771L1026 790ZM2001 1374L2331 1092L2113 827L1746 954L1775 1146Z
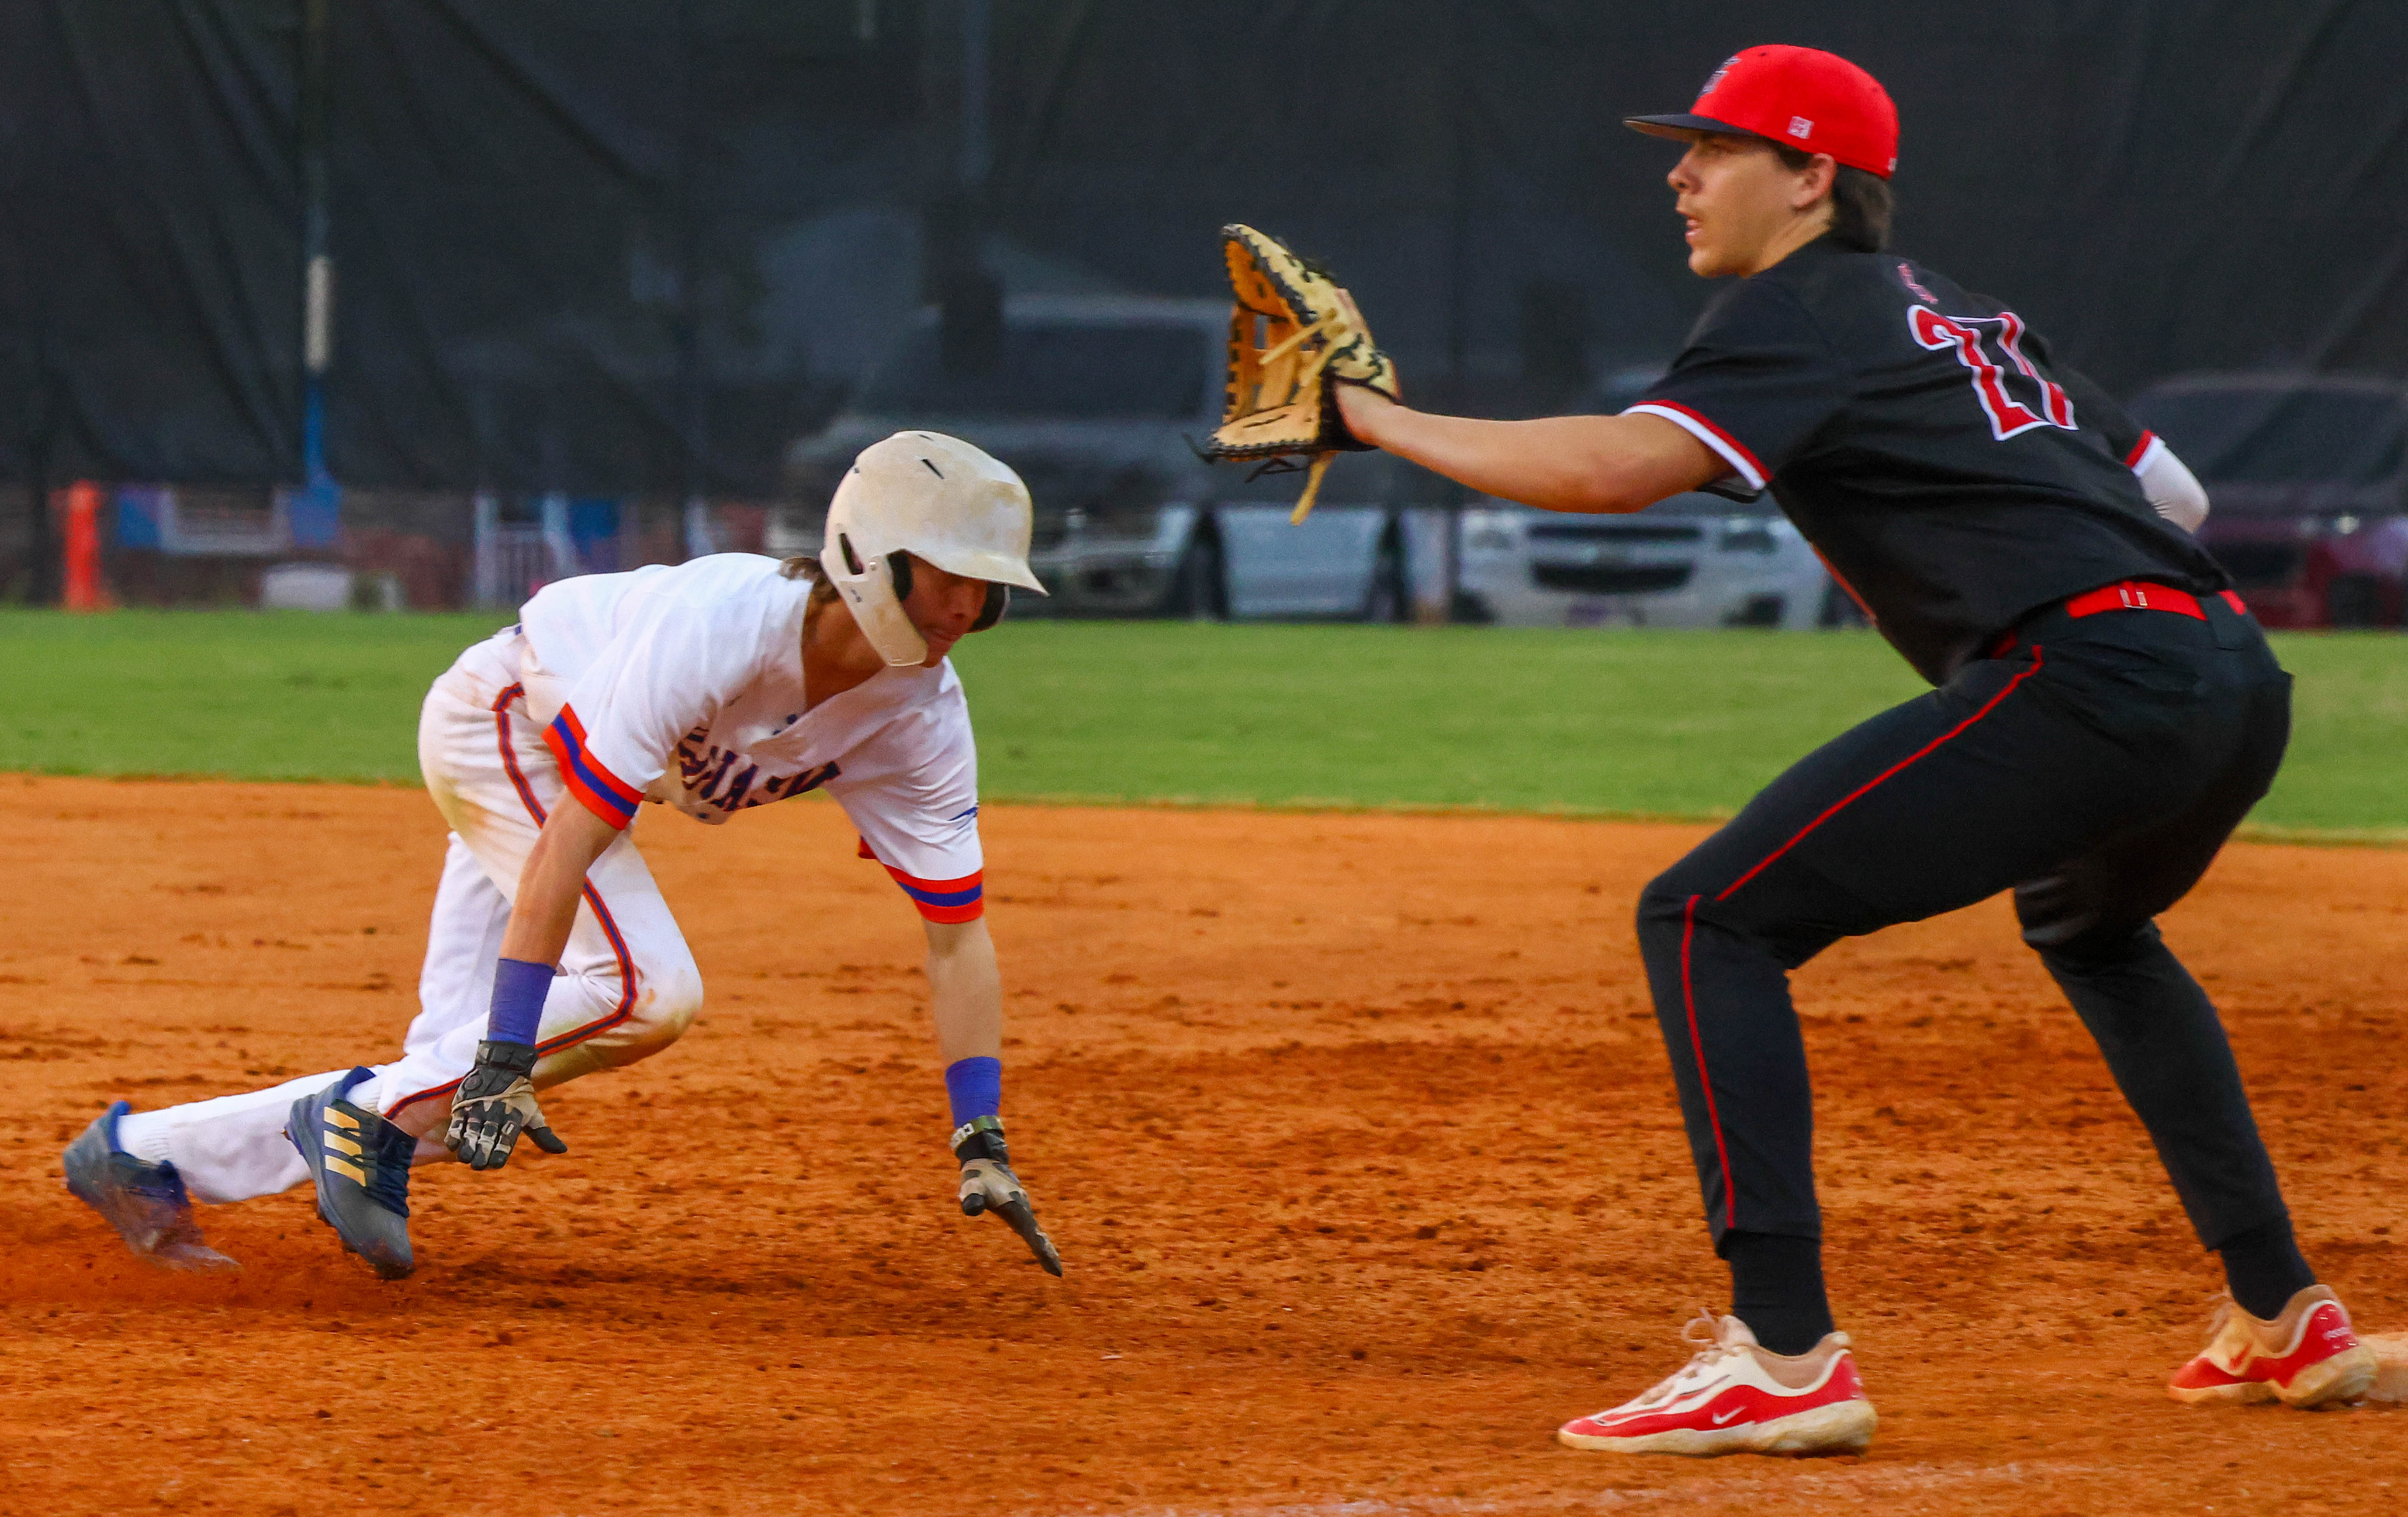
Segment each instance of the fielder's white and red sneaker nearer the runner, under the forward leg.
M1700 1332L1702 1329L1702 1332ZM1616 1454L1854 1454L1873 1440L1873 1404L1847 1334L1799 1356L1770 1353L1739 1317L1700 1315L1681 1339L1705 1344L1637 1401L1556 1430L1575 1450Z

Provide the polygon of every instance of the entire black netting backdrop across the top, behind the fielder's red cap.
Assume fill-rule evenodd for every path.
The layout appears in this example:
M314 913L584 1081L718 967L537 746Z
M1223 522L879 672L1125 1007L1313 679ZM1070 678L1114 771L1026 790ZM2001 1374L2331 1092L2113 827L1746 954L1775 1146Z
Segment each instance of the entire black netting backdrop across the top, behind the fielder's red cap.
M1216 294L1226 219L1329 258L1466 405L1534 361L1657 364L1705 287L1671 149L1616 123L1755 41L1871 67L1898 243L2112 390L2408 376L2408 10L2372 0L325 14L354 489L775 494L944 267ZM303 0L0 7L0 477L299 479L301 29Z

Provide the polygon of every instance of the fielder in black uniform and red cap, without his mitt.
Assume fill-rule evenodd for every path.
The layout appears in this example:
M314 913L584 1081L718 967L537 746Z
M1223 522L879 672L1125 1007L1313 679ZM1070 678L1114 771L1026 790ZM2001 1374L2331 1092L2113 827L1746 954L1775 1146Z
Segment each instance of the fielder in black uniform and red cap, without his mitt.
M2316 1406L2374 1356L2292 1242L2215 1009L2153 917L2266 792L2290 677L2184 530L2196 482L2013 311L1883 250L1898 113L1830 53L1748 48L1681 116L1690 270L1729 277L1621 417L1474 421L1346 385L1363 443L1548 510L1770 489L1934 691L1808 754L1652 881L1637 932L1731 1315L1575 1447L1859 1450L1823 1291L1789 970L2013 889L2148 1127L2232 1310L2184 1401Z

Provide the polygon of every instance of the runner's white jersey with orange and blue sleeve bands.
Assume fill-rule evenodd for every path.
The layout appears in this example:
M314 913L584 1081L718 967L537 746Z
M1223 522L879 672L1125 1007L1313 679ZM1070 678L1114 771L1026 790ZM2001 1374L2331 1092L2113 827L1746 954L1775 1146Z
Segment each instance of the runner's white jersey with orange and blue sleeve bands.
M614 828L641 802L720 824L826 790L920 915L978 917L978 744L951 660L804 710L809 595L759 554L547 585L520 612L527 715Z

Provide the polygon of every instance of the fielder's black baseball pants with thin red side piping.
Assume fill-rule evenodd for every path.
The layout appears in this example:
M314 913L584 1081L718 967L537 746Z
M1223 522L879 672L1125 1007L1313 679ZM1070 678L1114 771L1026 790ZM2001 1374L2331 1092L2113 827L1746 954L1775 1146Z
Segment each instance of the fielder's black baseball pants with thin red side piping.
M2023 939L2148 1127L2206 1247L2285 1221L2206 992L2150 922L2273 783L2290 677L2206 619L2061 607L1808 754L1640 898L1640 949L1717 1247L1820 1238L1789 970L2015 891Z

